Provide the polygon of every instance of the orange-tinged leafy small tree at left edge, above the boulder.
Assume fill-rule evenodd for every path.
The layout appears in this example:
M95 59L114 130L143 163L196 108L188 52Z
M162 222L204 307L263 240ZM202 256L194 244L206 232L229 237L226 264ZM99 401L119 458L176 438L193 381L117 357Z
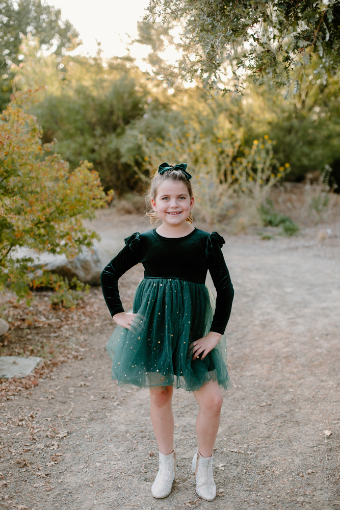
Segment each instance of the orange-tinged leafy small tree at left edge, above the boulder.
M96 234L83 225L106 205L99 175L88 162L74 171L53 147L42 146L42 130L23 105L33 91L17 93L0 117L0 288L28 295L33 259L18 253L29 248L75 256L91 247Z

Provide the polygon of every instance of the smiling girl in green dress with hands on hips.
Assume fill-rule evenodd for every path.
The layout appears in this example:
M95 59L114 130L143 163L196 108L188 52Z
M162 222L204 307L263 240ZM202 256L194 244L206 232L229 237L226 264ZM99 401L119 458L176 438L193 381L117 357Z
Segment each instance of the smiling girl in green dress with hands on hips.
M173 387L192 391L199 405L196 420L198 451L192 469L196 492L212 501L213 447L220 423L222 394L229 386L227 325L233 288L221 247L224 239L192 223L194 197L186 164L163 163L147 195L151 222L162 224L125 239L126 246L101 273L103 295L118 324L107 349L113 360L112 378L118 385L150 388L151 422L159 446L159 472L153 497L170 494L176 474L173 450ZM118 279L142 262L133 311L124 312ZM215 299L205 286L207 270L217 290Z

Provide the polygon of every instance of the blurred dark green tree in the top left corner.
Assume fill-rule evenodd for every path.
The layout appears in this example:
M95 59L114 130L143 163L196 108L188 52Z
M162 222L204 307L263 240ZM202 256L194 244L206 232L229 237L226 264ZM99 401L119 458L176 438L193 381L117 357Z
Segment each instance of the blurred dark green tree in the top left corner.
M13 68L20 65L24 55L20 53L23 37L34 36L43 50L61 57L65 51L74 49L81 41L79 33L68 21L62 21L60 9L42 5L40 0L3 0L0 4L0 67L2 86L0 110L3 110L12 93ZM64 65L57 65L62 69ZM62 71L61 71L62 72Z

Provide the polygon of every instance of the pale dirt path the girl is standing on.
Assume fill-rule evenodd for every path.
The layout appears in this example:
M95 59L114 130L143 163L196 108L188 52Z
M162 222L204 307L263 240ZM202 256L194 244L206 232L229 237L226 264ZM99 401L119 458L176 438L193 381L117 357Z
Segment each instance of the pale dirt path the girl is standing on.
M152 498L158 466L148 391L110 380L104 345L112 323L93 290L96 326L79 342L72 332L84 359L60 365L31 395L0 406L0 507L339 509L340 225L322 242L319 230L290 240L228 238L236 290L227 335L232 389L224 392L214 502L194 490L197 404L180 390L178 478L168 498ZM141 276L138 266L123 277L125 305ZM28 420L30 428L21 425Z

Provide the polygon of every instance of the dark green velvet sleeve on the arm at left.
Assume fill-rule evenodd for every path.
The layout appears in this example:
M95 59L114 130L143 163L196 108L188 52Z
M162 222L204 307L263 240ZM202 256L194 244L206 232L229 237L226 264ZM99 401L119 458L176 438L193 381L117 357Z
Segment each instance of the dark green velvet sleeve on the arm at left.
M122 302L119 297L118 280L128 269L138 264L140 257L140 235L135 232L125 240L124 248L111 262L102 270L100 274L100 284L102 293L111 317L120 312L124 312Z

